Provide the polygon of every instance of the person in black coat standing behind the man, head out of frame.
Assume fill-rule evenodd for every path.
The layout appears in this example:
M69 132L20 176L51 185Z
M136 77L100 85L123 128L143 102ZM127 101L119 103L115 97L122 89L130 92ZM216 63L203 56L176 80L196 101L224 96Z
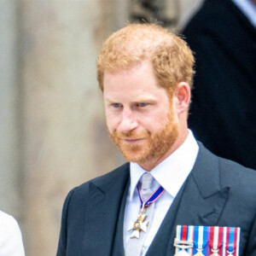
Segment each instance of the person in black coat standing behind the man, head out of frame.
M255 27L255 0L206 0L183 30L196 63L189 127L214 154L253 169Z

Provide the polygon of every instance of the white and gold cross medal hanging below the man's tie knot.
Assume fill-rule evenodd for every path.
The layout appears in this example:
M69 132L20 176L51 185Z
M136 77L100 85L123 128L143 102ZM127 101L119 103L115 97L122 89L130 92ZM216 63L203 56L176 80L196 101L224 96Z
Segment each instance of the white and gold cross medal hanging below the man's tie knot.
M135 223L133 223L132 221L130 222L128 231L133 230L130 238L140 238L141 230L143 230L143 232L147 232L149 221L144 222L145 218L147 218L147 215L145 214L145 209L143 205L142 212L138 215L137 221Z

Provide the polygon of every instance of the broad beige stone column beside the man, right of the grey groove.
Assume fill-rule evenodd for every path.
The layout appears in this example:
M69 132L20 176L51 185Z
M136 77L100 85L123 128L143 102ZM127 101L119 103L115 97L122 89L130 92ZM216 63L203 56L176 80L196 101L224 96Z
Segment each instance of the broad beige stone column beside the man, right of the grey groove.
M20 5L28 256L55 255L67 192L119 162L96 82L97 49L113 26L109 4Z

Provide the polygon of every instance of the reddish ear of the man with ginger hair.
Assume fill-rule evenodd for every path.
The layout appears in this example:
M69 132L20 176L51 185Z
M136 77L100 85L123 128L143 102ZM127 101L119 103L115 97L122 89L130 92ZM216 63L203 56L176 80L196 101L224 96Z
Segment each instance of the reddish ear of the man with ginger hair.
M189 84L180 82L174 90L174 101L177 113L183 113L189 109L189 102L191 99L191 90Z

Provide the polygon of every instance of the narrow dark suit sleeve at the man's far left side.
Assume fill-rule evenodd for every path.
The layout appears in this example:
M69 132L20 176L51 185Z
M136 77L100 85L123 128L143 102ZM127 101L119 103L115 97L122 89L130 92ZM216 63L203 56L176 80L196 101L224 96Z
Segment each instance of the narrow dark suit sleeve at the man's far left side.
M67 198L63 205L62 217L61 217L61 233L60 233L56 256L66 256L67 254L67 209L68 209L69 201L72 195L73 195L73 190L71 190L68 193Z

